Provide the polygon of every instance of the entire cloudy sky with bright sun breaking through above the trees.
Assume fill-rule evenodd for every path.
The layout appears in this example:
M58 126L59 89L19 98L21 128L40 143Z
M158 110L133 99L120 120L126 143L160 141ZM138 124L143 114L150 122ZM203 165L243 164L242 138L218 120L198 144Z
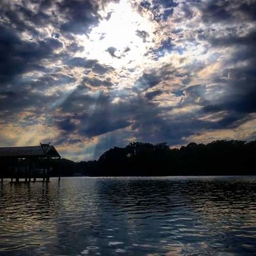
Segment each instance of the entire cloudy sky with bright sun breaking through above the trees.
M256 139L256 1L1 0L0 147Z

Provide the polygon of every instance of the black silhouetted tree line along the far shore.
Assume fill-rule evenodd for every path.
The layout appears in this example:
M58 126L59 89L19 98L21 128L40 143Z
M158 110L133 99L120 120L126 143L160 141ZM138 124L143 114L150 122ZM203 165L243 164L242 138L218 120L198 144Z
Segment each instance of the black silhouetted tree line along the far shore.
M131 142L114 147L98 161L73 162L61 159L62 175L167 176L167 175L254 175L255 141L217 140L170 148L167 143Z

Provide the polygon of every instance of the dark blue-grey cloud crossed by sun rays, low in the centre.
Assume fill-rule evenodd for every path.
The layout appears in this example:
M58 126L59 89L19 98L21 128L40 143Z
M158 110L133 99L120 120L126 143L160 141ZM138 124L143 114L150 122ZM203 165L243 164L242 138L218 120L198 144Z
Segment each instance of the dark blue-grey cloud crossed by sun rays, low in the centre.
M70 119L60 122L61 117L55 116L58 127L65 131L76 129L81 136L94 137L130 125L129 116L119 115L119 106L113 105L110 95L103 92L89 94L86 89L79 87L60 107L63 113L76 113L73 119L79 121L79 125L75 128Z

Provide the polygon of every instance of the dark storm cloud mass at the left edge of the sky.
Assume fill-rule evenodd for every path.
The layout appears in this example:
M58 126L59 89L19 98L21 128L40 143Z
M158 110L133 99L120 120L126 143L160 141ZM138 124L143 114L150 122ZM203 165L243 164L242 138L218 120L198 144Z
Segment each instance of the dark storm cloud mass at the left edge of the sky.
M15 118L15 114L26 108L42 113L42 108L57 100L57 95L44 95L43 90L75 81L64 74L51 74L53 70L44 65L44 61L59 59L54 51L62 48L62 42L49 37L38 41L21 39L5 23L0 25L0 31L0 108L5 113L3 118ZM25 75L34 71L42 73L41 76Z

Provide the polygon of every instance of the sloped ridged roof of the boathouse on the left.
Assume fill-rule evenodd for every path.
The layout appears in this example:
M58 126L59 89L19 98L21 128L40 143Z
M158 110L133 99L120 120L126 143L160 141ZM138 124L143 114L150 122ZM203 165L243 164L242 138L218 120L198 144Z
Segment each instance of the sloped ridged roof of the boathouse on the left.
M40 146L27 147L0 147L0 157L60 157L54 146L41 144Z

